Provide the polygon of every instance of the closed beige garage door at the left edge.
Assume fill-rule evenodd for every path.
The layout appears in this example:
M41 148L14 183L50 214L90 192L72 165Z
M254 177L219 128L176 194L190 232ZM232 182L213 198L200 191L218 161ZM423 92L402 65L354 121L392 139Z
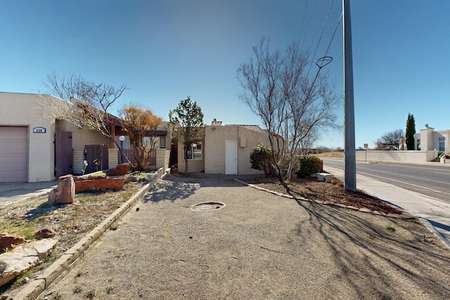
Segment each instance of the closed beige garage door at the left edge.
M28 127L0 126L0 182L28 181Z

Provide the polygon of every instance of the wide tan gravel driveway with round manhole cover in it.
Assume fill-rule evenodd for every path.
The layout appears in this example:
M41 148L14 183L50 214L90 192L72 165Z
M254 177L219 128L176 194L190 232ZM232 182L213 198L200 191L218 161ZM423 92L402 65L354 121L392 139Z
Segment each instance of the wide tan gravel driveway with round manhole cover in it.
M39 299L448 299L449 261L420 223L167 175Z

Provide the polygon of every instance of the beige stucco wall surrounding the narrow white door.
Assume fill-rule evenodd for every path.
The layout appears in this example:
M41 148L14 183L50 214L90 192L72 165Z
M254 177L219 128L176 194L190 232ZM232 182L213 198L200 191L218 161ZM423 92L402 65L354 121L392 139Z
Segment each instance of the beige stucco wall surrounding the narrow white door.
M251 168L250 153L258 144L270 145L266 133L243 126L206 126L205 128L205 174L225 174L226 141L237 143L237 173L264 174ZM245 141L245 142L244 142Z

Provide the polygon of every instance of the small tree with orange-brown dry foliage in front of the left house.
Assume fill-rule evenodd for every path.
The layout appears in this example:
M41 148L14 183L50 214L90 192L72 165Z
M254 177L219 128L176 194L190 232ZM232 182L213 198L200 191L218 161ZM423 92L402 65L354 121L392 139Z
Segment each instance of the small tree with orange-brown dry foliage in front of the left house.
M149 164L149 154L155 149L155 133L162 124L162 119L153 115L151 110L144 110L137 105L123 107L119 115L120 123L127 131L129 141L135 150L136 168L145 170Z

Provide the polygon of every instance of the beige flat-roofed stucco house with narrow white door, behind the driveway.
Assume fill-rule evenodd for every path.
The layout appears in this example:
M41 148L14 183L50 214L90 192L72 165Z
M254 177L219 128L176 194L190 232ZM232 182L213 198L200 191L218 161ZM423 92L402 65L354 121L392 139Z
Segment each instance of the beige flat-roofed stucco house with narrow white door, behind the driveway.
M252 169L250 153L258 144L269 146L266 131L257 125L224 125L214 119L205 126L205 139L191 145L188 152L189 172L205 174L247 175L264 174ZM178 166L183 169L183 144L178 145Z

